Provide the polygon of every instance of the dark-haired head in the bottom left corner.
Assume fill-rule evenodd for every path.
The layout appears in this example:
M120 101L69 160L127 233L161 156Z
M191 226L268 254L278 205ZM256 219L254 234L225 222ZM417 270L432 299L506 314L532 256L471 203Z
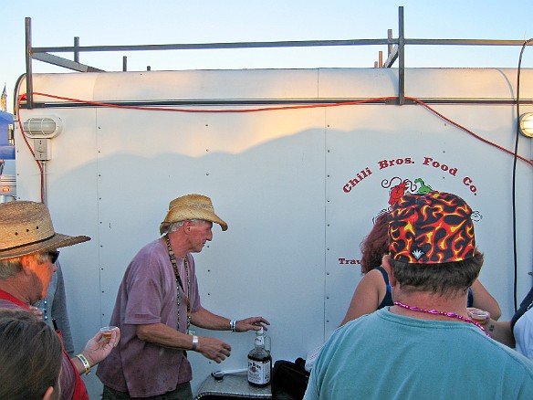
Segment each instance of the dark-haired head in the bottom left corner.
M59 398L61 341L28 311L0 309L0 398Z

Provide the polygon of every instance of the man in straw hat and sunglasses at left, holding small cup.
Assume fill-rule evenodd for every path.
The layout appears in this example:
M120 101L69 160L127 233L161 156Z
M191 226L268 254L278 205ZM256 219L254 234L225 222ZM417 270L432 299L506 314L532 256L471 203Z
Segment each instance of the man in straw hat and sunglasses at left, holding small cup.
M69 237L57 233L47 206L41 203L15 201L0 204L0 308L23 309L47 296L47 288L57 248L76 245L89 237ZM119 341L120 333L102 341L98 332L82 353L70 359L63 353L59 378L62 399L89 399L80 374L107 357ZM28 360L32 354L27 354Z

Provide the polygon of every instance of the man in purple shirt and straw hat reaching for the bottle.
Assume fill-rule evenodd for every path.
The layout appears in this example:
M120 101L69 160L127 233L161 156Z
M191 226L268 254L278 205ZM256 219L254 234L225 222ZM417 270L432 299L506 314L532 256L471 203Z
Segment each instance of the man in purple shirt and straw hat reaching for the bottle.
M111 325L120 326L120 346L99 364L104 399L150 397L192 399L191 365L185 351L221 363L231 346L196 336L191 324L217 331L265 328L262 317L230 320L202 307L194 259L213 238L213 224L227 224L214 214L211 199L184 195L169 205L160 226L162 237L142 247L120 284Z

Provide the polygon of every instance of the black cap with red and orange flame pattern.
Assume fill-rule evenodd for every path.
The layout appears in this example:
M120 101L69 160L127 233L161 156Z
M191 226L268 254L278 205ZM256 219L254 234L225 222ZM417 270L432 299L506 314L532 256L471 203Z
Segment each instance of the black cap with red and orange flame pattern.
M458 195L403 195L389 215L389 252L412 264L441 264L474 257L472 209Z

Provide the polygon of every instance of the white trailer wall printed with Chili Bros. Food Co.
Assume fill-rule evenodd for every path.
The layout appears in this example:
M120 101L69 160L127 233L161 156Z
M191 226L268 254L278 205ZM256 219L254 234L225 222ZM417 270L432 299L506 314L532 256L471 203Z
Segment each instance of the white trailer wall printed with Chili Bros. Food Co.
M397 72L48 74L34 76L34 90L129 104L183 100L177 108L235 111L271 107L265 101L396 96ZM533 98L532 78L533 71L522 71L524 99ZM437 101L432 107L447 118L512 150L515 81L511 69L408 69L406 95ZM361 279L361 240L372 218L389 206L392 187L405 180L409 191L429 185L461 195L472 206L478 246L486 255L481 280L499 301L502 318L513 313L513 156L421 105L170 112L40 95L35 100L47 106L21 110L21 121L55 115L63 123L46 163L54 225L61 233L92 237L61 252L79 350L108 323L122 274L140 247L158 237L169 201L189 193L211 196L229 225L224 233L214 227L213 242L194 256L204 307L235 319L265 316L272 323L274 360L305 358L338 326ZM235 101L242 104L221 104ZM16 145L17 195L38 201L37 165L18 129ZM531 139L520 137L518 153L531 160ZM517 162L518 300L531 287L532 171ZM190 355L194 392L212 371L246 366L253 346L252 332L197 332L229 342L233 351L221 365ZM98 379L85 379L91 397L98 398Z

